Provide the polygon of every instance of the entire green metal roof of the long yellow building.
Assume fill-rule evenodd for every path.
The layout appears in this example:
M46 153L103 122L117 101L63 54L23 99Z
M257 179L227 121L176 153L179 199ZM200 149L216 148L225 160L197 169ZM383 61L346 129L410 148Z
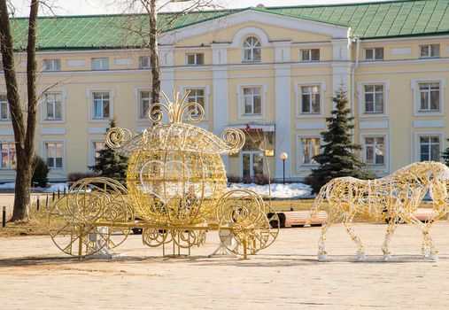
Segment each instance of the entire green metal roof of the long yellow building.
M449 0L403 0L363 4L332 4L247 8L214 12L160 13L159 28L166 31L187 27L236 12L255 10L351 27L360 38L449 34ZM173 20L172 20L173 19ZM140 35L148 28L145 15L86 15L38 19L40 50L91 50L144 46ZM27 40L27 19L12 19L16 48Z

